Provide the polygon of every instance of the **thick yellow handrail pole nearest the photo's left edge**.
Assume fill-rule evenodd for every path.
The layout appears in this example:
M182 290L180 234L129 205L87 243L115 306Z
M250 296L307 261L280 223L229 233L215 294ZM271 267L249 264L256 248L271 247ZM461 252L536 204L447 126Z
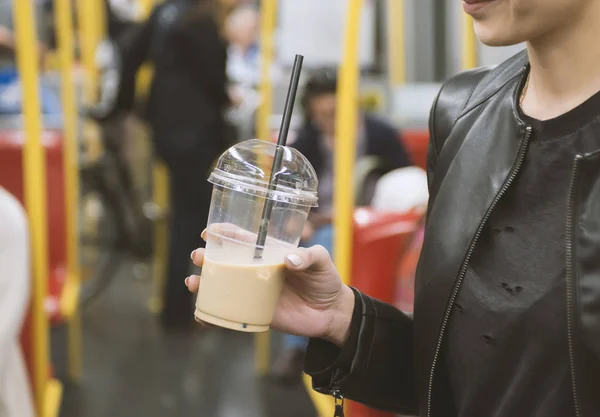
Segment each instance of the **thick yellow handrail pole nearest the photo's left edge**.
M33 392L38 415L54 417L58 413L61 389L60 384L49 378L49 326L48 316L44 309L48 292L48 212L46 210L46 163L41 136L39 51L35 33L33 2L13 2L13 19L17 43L17 67L23 92L25 121L23 177L32 251Z

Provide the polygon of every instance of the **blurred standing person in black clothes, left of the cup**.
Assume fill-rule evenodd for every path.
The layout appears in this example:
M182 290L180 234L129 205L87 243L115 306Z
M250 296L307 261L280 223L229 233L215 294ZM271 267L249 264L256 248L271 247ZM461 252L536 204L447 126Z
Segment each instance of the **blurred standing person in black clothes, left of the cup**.
M217 11L212 0L168 1L121 43L122 95L131 94L135 73L145 61L154 67L144 114L156 154L170 175L171 236L162 312L169 329L193 323L192 297L180 281L188 275L190 251L203 244L200 233L211 195L206 178L227 144L227 49Z

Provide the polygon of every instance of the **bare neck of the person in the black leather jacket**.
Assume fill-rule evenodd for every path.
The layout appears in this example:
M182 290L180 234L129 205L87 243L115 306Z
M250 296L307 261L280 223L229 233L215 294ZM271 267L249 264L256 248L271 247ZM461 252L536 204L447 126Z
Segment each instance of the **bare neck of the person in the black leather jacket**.
M529 116L547 120L600 91L600 2L571 25L527 44L531 73L523 100Z

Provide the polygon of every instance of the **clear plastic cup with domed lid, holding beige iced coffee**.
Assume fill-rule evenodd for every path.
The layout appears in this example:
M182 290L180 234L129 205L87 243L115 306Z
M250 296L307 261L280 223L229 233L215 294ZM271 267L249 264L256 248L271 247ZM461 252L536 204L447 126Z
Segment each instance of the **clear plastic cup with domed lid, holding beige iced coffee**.
M276 186L269 188L278 146L253 139L228 149L213 184L206 252L196 300L198 320L244 332L269 330L284 283L284 258L300 241L317 205L317 175L297 150L281 147ZM264 245L263 209L271 201Z

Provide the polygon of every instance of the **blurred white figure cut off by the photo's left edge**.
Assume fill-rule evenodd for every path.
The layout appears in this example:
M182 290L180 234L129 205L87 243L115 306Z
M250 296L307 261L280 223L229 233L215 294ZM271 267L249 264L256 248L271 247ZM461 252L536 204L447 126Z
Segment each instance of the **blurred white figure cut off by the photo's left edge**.
M33 417L20 335L29 302L29 233L19 202L0 187L0 416Z

